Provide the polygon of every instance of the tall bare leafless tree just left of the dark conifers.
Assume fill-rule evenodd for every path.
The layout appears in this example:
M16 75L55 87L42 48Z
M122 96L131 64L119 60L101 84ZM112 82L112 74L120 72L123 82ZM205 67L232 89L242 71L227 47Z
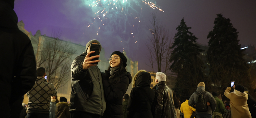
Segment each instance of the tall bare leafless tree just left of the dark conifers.
M158 72L163 72L168 75L168 68L170 65L169 58L171 54L171 49L169 47L172 44L169 36L169 30L166 29L164 24L159 22L156 13L152 13L150 23L151 25L148 26L148 29L151 36L149 37L149 41L146 43L149 50L148 58L150 66L153 73L155 73L154 67L157 66Z

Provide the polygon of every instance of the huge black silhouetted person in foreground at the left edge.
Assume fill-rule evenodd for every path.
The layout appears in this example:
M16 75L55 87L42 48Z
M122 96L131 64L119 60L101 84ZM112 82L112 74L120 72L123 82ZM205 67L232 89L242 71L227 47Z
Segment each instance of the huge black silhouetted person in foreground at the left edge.
M31 41L19 30L13 8L14 0L0 0L0 101L4 106L0 108L1 118L20 116L23 95L37 77Z

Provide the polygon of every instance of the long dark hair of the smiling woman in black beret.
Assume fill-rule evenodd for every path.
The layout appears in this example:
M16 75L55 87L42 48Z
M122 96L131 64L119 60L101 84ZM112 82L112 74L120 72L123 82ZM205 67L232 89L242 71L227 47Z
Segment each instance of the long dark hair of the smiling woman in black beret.
M108 66L108 70L110 71L111 68L112 67L109 65ZM125 72L126 72L126 69L124 67L122 59L120 58L120 69L116 72L116 74L113 77L114 79L110 82L110 84L114 84L115 85L115 84L119 83L120 79L121 79L120 75L125 73Z

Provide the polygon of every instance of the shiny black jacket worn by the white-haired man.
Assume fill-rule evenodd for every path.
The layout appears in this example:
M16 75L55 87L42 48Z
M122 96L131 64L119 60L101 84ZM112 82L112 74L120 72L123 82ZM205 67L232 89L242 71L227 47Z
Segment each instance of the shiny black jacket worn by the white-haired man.
M154 89L156 97L154 100L153 117L176 118L171 88L162 81L156 84Z

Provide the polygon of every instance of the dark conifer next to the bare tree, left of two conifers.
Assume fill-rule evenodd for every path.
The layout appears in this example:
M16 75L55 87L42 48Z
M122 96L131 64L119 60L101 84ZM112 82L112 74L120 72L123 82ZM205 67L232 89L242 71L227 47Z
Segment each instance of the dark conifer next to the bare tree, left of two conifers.
M170 69L177 77L174 91L181 97L191 95L197 84L204 80L203 62L198 57L204 50L195 44L198 38L188 31L191 27L185 23L182 18L176 28L178 32L174 36L170 58Z

